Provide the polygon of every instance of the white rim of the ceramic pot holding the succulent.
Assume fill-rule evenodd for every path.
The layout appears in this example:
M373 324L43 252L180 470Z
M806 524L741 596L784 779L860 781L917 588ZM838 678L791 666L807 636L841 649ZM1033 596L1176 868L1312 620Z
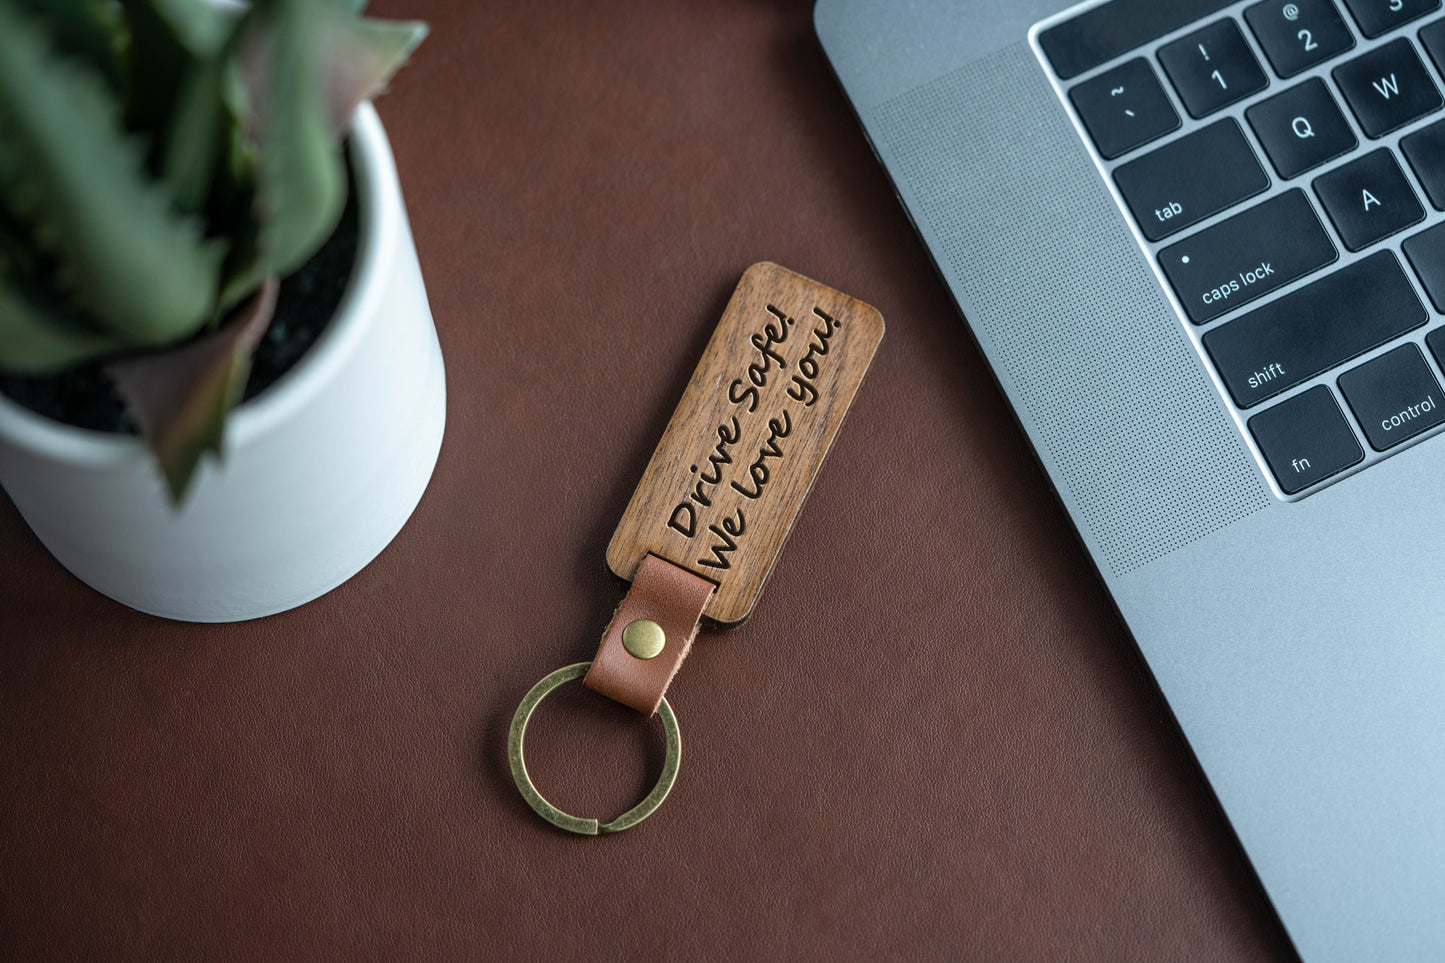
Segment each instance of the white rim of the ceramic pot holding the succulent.
M387 197L389 185L397 182L394 162L381 120L370 103L357 107L350 134L351 189L357 192L360 237L341 304L290 370L230 414L225 421L228 448L246 445L305 408L332 373L345 364L379 314L374 307L384 295L386 265L392 259L397 231L403 230L402 205L397 198ZM66 425L25 408L3 392L0 441L72 464L103 466L149 457L136 435Z

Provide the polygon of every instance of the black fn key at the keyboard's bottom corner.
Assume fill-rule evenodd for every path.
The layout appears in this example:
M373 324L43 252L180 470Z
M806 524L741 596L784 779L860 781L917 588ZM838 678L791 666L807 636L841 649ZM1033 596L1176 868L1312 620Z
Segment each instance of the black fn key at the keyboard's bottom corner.
M1324 385L1254 415L1250 434L1285 495L1364 461L1364 448Z

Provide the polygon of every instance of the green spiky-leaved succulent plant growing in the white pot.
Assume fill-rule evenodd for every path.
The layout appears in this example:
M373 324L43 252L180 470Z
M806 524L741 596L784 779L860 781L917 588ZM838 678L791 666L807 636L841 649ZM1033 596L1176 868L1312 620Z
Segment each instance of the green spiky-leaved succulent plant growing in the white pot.
M105 361L176 503L426 33L364 6L0 0L0 372Z

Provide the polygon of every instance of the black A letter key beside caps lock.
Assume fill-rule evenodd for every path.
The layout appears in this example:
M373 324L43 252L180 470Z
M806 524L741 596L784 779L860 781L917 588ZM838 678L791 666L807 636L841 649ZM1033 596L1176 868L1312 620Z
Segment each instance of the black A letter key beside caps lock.
M1405 171L1384 147L1315 178L1315 194L1350 250L1425 220Z

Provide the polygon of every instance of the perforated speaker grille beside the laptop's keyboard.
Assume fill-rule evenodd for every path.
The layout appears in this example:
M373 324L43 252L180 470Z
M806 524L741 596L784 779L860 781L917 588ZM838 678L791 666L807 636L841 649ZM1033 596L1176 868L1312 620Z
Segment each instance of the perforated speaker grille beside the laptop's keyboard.
M1027 45L868 120L1040 458L1116 575L1274 502Z

